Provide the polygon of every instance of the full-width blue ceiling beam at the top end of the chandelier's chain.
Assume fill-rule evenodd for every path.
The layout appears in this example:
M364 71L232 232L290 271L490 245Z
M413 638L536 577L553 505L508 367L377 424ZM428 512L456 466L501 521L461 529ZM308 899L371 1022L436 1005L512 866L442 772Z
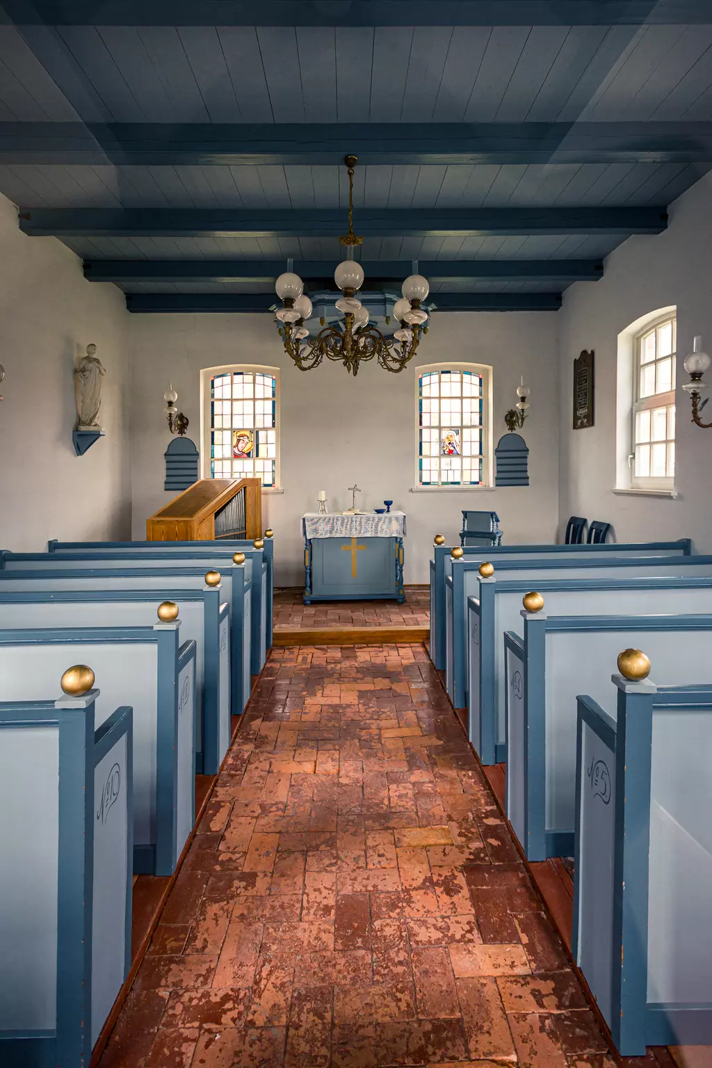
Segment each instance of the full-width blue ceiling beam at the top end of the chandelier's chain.
M712 19L712 0L710 0ZM712 162L711 122L0 123L0 163Z

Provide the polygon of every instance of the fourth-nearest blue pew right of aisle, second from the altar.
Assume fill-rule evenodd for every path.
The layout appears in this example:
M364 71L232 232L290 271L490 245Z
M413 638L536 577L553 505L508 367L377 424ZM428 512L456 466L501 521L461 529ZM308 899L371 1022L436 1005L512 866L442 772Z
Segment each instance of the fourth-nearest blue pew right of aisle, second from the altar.
M569 547L570 548L570 547ZM712 556L676 555L671 552L653 553L636 547L617 546L617 551L601 552L601 546L596 553L582 557L580 549L574 547L573 554L555 554L548 559L497 559L492 566L495 575L502 578L523 578L536 583L540 578L592 578L602 576L606 568L623 578L643 575L684 575L697 569L705 575L706 567L712 563ZM468 597L477 597L480 583L480 564L472 560L455 560L452 562L453 574L445 579L446 592L446 689L456 708L464 708L468 704ZM624 570L620 570L624 568ZM700 570L701 569L701 570Z

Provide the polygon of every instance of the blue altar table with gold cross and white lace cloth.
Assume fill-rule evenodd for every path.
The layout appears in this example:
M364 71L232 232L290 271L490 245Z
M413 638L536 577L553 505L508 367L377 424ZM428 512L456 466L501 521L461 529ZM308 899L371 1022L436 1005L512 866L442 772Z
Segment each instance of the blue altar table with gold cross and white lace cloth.
M313 600L397 600L402 604L402 512L302 516L304 603Z

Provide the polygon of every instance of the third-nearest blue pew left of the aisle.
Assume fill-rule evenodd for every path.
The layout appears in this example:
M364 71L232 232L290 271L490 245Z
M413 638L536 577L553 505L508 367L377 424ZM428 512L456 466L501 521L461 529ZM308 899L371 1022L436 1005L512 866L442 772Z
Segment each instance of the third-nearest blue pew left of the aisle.
M153 590L5 591L0 583L0 629L153 626L160 601L176 606L181 639L195 642L195 770L213 775L231 739L230 613L219 587L157 596Z

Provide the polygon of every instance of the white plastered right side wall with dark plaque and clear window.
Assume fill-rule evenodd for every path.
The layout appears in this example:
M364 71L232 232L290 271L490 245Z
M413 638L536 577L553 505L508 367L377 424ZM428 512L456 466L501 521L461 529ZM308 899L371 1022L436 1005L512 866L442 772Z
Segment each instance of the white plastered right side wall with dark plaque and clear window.
M558 313L560 360L560 529L569 515L613 522L619 541L690 536L697 551L712 551L712 430L690 421L682 361L693 336L712 347L712 175L668 209L668 229L631 237L605 261L603 278L566 290ZM676 498L614 492L621 464L616 452L618 335L651 312L677 307ZM573 360L596 351L595 425L571 427ZM708 376L709 377L709 376ZM712 406L708 406L710 408ZM712 420L708 409L706 421ZM620 421L619 421L620 422Z

